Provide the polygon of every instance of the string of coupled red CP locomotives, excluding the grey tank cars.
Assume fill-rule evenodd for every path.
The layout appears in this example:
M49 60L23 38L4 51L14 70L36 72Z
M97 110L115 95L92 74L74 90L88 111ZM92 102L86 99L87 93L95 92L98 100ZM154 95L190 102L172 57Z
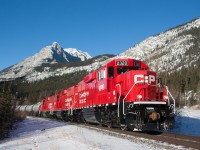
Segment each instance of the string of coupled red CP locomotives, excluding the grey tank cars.
M144 62L116 58L37 105L40 115L66 121L130 130L167 129L175 113L169 94Z

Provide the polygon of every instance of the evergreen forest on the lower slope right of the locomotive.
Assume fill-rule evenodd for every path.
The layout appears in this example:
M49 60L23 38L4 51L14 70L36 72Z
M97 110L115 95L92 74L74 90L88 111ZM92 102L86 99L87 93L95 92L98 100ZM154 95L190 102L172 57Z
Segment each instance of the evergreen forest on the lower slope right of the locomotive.
M169 86L172 95L180 106L194 105L200 101L200 59L190 67L179 71L161 72L163 84Z

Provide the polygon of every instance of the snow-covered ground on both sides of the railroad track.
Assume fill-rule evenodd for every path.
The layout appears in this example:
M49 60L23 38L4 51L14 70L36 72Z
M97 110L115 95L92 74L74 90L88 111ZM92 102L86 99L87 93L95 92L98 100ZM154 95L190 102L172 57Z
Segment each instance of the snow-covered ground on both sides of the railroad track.
M172 132L200 136L200 109L182 109ZM143 138L113 136L65 122L27 117L16 124L10 138L0 141L1 150L156 150L184 149Z

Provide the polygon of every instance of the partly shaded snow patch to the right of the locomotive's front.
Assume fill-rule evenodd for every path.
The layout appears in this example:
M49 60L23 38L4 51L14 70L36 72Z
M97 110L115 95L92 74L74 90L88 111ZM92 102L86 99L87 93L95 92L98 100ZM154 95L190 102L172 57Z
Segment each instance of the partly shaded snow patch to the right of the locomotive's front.
M175 126L170 132L200 136L200 108L184 107L177 110Z

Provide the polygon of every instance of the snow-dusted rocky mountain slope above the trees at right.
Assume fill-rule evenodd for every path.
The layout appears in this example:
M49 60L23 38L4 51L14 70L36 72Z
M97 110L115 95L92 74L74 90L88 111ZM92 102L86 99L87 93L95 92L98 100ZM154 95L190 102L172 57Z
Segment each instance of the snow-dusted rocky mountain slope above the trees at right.
M180 70L200 58L200 18L151 36L120 56L145 61L155 71Z

